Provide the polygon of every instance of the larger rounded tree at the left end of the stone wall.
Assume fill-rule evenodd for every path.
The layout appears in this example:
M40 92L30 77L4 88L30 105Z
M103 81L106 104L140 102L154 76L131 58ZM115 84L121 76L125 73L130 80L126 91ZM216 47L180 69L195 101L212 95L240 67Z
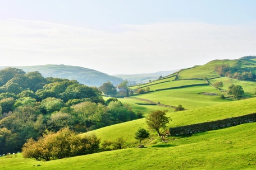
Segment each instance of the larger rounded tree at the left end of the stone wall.
M160 136L160 129L166 128L169 120L172 120L170 117L166 116L168 110L156 110L150 112L148 117L146 117L146 122L150 129L157 131Z

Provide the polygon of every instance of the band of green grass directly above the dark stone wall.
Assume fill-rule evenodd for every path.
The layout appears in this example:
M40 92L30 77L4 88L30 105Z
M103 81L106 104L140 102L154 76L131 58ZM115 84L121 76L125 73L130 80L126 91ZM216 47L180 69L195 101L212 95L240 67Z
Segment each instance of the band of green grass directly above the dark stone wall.
M214 121L225 119L228 117L241 116L256 112L256 98L229 102L221 105L196 108L180 112L167 112L167 116L172 118L169 127L183 126L196 124L205 121ZM116 140L118 137L124 138L127 145L134 147L138 141L134 139L135 132L141 128L147 129L145 119L124 122L122 124L107 126L105 128L94 130L90 133L95 133L102 140ZM151 132L151 134L154 134ZM146 143L154 143L156 141L146 140Z

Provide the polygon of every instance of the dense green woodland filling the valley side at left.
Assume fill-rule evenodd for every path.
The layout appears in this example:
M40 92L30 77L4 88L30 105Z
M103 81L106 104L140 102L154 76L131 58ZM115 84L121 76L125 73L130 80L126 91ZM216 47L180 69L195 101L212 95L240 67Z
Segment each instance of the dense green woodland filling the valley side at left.
M98 88L75 80L6 68L0 70L0 84L2 154L62 128L80 133L137 118L129 106L113 98L104 101Z

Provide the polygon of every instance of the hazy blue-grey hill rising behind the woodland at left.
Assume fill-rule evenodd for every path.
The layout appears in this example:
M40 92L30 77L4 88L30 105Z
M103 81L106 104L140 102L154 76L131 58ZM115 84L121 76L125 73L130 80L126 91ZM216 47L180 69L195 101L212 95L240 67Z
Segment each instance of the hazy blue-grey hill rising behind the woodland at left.
M110 81L114 86L124 81L122 78L114 77L97 70L76 67L70 65L35 65L35 66L8 66L14 68L20 68L24 72L40 72L43 77L56 77L76 79L79 83L86 86L102 86L103 83ZM7 66L0 67L0 69L7 68Z

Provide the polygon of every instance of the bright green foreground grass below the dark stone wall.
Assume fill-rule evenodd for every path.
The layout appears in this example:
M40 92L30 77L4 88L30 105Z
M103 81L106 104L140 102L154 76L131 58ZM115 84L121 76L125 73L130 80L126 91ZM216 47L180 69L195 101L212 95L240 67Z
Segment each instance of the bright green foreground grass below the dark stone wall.
M256 123L189 138L73 158L38 162L0 158L0 169L256 169ZM36 165L40 164L39 167Z

